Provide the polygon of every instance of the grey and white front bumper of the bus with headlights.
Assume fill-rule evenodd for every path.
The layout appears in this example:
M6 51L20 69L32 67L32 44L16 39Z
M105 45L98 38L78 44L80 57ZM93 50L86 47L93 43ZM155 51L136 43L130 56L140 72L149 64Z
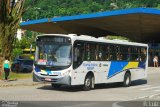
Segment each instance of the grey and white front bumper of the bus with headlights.
M51 81L45 80L45 78L49 78ZM54 76L42 76L41 74L36 74L33 72L33 81L34 82L48 82L53 84L64 84L64 85L71 85L71 77L63 76L63 77L54 77Z

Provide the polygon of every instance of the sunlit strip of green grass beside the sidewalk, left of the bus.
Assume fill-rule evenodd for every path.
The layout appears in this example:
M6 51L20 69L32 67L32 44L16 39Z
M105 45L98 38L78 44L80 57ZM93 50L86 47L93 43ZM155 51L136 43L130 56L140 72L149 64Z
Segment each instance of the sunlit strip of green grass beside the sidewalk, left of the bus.
M2 78L4 79L4 72L2 73ZM32 78L32 73L15 73L15 72L10 72L9 74L9 79L27 79L27 78Z

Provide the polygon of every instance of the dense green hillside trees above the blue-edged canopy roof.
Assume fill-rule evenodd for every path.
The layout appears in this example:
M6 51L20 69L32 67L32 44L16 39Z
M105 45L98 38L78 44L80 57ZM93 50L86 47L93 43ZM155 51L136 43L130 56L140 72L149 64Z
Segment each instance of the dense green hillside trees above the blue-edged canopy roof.
M160 0L26 0L24 20L136 7L158 7ZM115 7L116 6L116 7Z

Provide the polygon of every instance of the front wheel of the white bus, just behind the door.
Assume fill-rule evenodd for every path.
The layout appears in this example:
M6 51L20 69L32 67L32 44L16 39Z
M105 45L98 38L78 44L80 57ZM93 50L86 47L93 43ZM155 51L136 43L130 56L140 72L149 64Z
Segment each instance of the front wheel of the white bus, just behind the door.
M84 85L83 85L83 90L88 91L92 88L92 77L91 76L86 76Z

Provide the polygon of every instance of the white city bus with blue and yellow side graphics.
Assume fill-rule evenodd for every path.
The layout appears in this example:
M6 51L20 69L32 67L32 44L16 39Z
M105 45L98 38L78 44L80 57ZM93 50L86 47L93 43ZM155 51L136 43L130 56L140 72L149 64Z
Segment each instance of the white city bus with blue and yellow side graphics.
M44 34L37 37L33 80L61 85L82 85L131 81L147 77L148 45L106 40L74 34Z

